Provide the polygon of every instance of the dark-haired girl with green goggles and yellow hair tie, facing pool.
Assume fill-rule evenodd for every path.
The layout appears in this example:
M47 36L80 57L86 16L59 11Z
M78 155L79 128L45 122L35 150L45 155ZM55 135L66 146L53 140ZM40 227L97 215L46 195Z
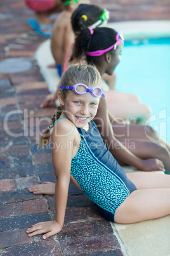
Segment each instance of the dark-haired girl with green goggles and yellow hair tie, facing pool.
M75 36L78 36L83 29L86 29L86 27L104 27L105 25L107 25L108 19L109 11L107 11L106 9L103 10L99 6L91 4L80 4L80 6L74 11L71 17L72 29L69 28L68 30L70 31L70 33L74 34ZM58 39L58 33L56 33L55 29L53 29L53 35L51 38L51 50L54 57L55 52L57 53L56 56L60 56L61 54L61 50L58 51L58 47L56 47L58 45L58 41L61 40ZM67 45L70 42L70 48L65 56L63 71L65 71L67 67L70 65L69 59L70 53L72 52L72 46L74 41L72 40L72 37L69 35L66 42ZM58 52L60 52L60 54ZM86 57L81 59L81 63L84 62L86 62ZM59 86L60 83L58 85L58 90L60 89ZM103 90L107 90L107 92L105 92L105 95L108 101L108 110L110 110L110 112L114 115L115 118L117 118L117 120L118 118L119 120L126 120L127 118L131 118L131 120L133 119L133 122L135 120L135 122L141 124L144 123L148 117L150 117L150 108L145 104L140 104L140 99L138 96L124 92L117 92L114 90L115 73L112 75L103 75L102 87ZM55 102L57 99L58 90L56 90L55 94L47 96L44 103L42 103L42 106L48 106L51 100Z

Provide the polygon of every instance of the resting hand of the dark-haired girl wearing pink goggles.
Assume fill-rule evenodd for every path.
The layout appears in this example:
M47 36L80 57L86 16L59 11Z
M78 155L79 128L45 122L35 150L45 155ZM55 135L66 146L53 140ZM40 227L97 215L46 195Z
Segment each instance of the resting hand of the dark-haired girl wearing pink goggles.
M143 159L142 163L142 171L165 171L164 164L159 159Z

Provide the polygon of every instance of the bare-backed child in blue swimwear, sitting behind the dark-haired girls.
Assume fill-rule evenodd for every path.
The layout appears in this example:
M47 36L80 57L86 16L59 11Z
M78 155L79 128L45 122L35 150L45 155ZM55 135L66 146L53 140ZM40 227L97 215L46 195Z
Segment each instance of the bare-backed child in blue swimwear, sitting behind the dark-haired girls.
M82 0L62 0L64 10L53 24L51 52L55 59L55 67L58 69L58 75L60 77L62 76L65 54L74 41L74 32L72 31L70 22L71 16L81 2ZM51 67L53 68L53 65Z

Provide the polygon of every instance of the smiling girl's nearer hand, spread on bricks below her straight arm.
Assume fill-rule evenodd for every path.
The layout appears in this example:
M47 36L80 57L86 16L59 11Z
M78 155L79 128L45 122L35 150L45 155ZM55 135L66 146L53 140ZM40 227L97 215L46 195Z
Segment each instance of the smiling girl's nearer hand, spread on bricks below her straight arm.
M39 222L35 225L32 225L27 229L26 233L30 233L28 236L36 236L37 234L43 234L43 239L49 238L49 236L54 236L62 230L62 226L59 225L55 220L51 222Z

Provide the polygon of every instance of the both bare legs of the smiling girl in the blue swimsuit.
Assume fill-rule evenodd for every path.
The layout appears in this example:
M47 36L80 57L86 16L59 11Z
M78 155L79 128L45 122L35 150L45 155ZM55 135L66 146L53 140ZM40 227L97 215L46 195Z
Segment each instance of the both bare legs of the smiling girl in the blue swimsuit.
M115 222L131 224L170 214L170 176L157 173L128 173L134 190L115 211Z

